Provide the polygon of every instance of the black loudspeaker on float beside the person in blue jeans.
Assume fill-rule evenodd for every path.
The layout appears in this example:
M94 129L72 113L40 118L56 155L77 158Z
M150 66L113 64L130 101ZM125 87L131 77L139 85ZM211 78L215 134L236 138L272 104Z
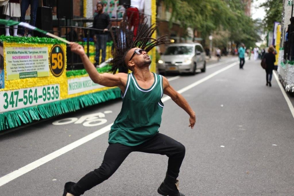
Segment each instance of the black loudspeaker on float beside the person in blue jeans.
M36 27L44 31L52 31L52 8L51 7L38 7L36 15ZM34 36L42 37L43 34L34 31Z

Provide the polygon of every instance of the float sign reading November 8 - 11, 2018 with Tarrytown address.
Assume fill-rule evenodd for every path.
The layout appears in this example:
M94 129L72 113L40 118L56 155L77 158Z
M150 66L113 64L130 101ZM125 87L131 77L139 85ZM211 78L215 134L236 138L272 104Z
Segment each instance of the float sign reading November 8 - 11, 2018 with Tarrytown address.
M48 47L5 47L7 80L49 76Z

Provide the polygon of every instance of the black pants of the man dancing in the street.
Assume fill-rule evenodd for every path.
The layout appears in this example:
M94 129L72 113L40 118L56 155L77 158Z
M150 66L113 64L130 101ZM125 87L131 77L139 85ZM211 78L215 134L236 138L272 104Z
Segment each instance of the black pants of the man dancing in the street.
M75 196L82 195L86 190L90 190L107 180L131 152L146 152L168 156L167 173L176 178L185 156L185 147L180 142L161 133L157 133L153 138L137 146L110 143L101 166L82 177L71 187L70 193Z

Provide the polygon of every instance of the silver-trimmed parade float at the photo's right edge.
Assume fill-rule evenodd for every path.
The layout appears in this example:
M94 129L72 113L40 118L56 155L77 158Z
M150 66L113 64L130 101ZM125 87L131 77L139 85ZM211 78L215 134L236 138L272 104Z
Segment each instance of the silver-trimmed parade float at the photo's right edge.
M278 52L278 74L279 79L285 87L286 92L294 92L294 24L290 22L290 18L293 17L293 1L284 1L282 24L277 26L277 33L281 35L277 37L280 43L276 47L280 46ZM292 28L291 28L292 26ZM288 32L287 32L288 31Z

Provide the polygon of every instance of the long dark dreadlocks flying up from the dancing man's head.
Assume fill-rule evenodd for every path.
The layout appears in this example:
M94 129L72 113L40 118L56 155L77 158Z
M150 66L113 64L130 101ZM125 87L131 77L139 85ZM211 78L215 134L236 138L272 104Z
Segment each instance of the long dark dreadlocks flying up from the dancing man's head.
M144 49L146 52L149 52L155 46L169 43L166 35L158 39L151 38L151 35L156 30L156 27L157 26L155 24L148 27L146 19L144 24L138 28L137 36L134 39L133 31L128 29L128 22L124 19L119 28L115 29L115 31L111 31L115 48L113 59L110 62L112 65L110 71L113 72L113 74L116 73L116 70L120 66L128 67L125 63L125 57L130 49L138 47Z

